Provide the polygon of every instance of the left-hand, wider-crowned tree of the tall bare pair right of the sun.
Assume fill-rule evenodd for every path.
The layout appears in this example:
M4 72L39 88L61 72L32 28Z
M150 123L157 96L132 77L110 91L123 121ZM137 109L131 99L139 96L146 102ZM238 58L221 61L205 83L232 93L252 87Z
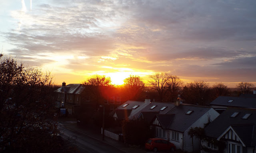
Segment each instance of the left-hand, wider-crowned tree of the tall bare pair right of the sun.
M162 102L168 92L168 81L170 80L171 75L169 73L156 73L149 77L152 78L152 80L148 81L149 85L158 92L160 101Z

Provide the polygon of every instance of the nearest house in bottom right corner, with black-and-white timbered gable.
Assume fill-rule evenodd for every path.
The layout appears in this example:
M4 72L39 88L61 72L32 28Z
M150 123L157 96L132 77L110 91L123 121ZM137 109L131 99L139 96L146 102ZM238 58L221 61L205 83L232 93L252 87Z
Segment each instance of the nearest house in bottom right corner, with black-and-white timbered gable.
M202 153L256 153L256 109L227 108L205 127Z

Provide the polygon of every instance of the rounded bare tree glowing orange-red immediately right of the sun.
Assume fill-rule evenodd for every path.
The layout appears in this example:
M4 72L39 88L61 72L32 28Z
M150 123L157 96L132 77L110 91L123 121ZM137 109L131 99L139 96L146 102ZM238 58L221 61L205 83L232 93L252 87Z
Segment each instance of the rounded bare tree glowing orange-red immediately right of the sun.
M130 77L124 80L124 89L130 100L138 100L146 86L139 76L130 75Z

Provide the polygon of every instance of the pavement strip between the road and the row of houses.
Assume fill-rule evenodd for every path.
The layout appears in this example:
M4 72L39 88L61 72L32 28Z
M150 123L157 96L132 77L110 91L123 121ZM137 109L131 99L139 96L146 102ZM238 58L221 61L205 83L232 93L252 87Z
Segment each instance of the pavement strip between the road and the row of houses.
M58 123L71 131L76 131L87 135L88 137L102 141L102 134L100 128L77 126L75 118L60 118L58 120ZM124 144L123 142L116 141L106 136L104 137L103 142L113 147L116 147L126 153L150 153L144 149L144 146L129 146Z

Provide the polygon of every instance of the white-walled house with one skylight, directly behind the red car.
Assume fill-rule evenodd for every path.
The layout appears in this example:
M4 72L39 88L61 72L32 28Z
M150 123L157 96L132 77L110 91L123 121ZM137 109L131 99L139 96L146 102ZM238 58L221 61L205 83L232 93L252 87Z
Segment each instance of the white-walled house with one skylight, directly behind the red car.
M200 141L194 137L194 147L192 146L192 138L188 135L189 129L204 128L205 124L217 116L219 113L210 107L180 104L166 114L156 115L151 122L151 128L155 130L155 137L174 143L176 149L192 152L193 148L200 150Z

